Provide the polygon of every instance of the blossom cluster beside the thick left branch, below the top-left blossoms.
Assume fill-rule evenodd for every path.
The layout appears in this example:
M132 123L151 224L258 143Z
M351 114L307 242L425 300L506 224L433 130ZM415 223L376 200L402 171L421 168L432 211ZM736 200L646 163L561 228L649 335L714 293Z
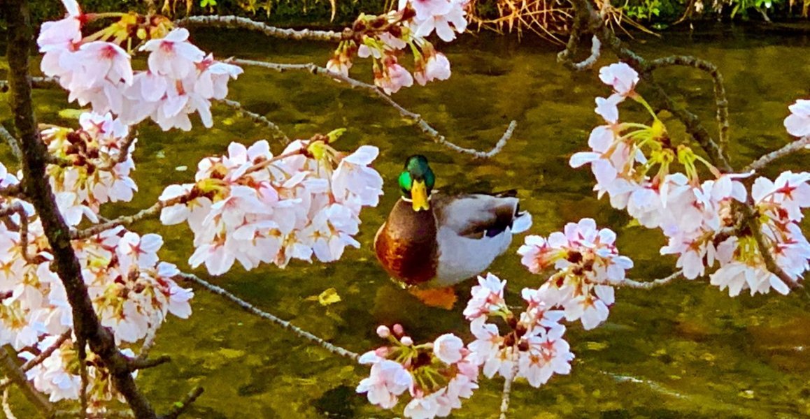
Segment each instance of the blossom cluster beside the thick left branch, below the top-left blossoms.
M67 165L48 167L51 187L59 210L69 226L86 216L98 222L99 207L108 201L131 201L138 190L130 171L134 170L132 152L135 142L127 144L129 127L105 115L83 113L81 129L52 127L42 131L48 151Z

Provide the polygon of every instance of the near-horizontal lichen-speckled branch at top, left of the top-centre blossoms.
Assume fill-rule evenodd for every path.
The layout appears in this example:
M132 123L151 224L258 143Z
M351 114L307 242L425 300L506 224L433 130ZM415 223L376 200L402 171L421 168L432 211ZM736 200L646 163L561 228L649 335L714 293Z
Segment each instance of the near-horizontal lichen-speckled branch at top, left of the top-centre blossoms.
M266 36L281 38L284 40L324 40L328 42L340 42L352 36L352 30L346 28L343 32L334 31L312 31L309 29L276 28L266 23L242 18L239 16L189 16L174 22L177 26L203 26L205 28L229 28L229 29L249 29L251 31L262 32Z

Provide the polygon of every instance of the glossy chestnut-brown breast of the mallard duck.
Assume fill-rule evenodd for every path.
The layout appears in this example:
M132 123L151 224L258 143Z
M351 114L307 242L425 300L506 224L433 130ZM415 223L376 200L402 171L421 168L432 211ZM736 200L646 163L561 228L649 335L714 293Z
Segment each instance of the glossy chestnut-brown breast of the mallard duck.
M430 281L436 277L436 235L433 210L417 212L410 202L399 200L374 240L377 260L407 285Z

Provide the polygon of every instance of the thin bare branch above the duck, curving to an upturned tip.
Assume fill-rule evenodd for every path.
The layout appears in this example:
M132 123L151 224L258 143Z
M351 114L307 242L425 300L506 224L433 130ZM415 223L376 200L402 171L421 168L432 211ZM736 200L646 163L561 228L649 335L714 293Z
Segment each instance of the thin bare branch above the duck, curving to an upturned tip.
M471 148L464 148L462 146L457 146L453 142L448 141L447 138L445 138L445 136L441 135L441 133L439 133L436 129L434 129L432 126L430 126L427 121L424 121L424 119L422 118L422 116L420 114L415 113L415 112L411 112L411 111L407 110L406 108L403 108L402 105L395 102L394 99L391 99L391 97L389 95L386 95L386 93L384 91L380 90L379 88L377 88L373 84L360 82L360 80L356 80L356 79L348 77L346 75L336 73L335 71L327 70L325 67L316 66L313 63L309 63L309 64L280 64L280 63L266 62L266 61L241 60L241 59L237 59L237 58L234 58L234 59L230 60L230 62L232 62L233 64L240 65L240 66L258 66L258 67L262 67L262 68L266 68L266 69L270 69L270 70L276 70L276 71L279 71L279 72L284 72L284 71L304 71L304 72L307 72L307 73L317 74L317 75L321 75L321 76L324 76L324 77L335 79L335 80L337 80L339 82L346 83L349 87L352 87L352 88L357 87L357 88L363 89L365 91L369 91L370 93L373 93L373 95L376 95L379 99L382 99L383 102L386 102L386 104L390 104L390 106L392 106L394 109L396 109L399 112L400 116L403 116L403 118L415 122L416 126L418 126L419 129L423 133L427 134L428 137L433 139L433 142L437 142L438 144L441 144L442 146L448 147L448 148L450 148L450 150L457 151L458 153L470 154L473 157L478 158L478 159L489 159L492 156L494 156L495 154L500 153L501 150L503 149L503 147L506 145L506 142L509 141L509 138L512 138L512 133L514 133L514 129L518 125L517 121L511 121L509 123L509 127L506 129L504 134L496 142L495 146L493 146L491 150L480 151L480 150L475 150L475 149L471 149Z

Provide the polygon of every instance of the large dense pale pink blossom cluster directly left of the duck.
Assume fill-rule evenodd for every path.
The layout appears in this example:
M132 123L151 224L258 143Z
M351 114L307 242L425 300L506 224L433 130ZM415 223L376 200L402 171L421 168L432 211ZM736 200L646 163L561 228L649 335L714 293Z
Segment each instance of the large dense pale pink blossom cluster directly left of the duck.
M189 263L205 263L213 275L238 260L245 269L260 263L286 266L292 258L338 260L347 246L359 247L360 210L376 206L382 176L369 164L374 146L352 154L324 140L297 140L273 156L262 140L236 142L228 155L203 159L196 183L168 186L161 201L181 200L160 214L164 224L187 222L194 231Z

